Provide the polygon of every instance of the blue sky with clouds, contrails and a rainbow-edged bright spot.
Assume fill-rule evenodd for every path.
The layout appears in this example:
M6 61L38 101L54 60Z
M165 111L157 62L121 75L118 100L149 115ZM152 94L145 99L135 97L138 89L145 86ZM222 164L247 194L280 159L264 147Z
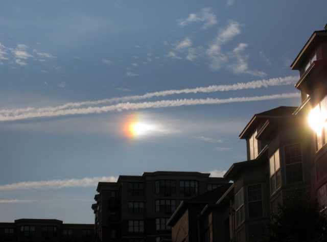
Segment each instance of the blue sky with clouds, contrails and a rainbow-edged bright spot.
M326 1L0 0L0 222L94 223L99 181L221 177Z

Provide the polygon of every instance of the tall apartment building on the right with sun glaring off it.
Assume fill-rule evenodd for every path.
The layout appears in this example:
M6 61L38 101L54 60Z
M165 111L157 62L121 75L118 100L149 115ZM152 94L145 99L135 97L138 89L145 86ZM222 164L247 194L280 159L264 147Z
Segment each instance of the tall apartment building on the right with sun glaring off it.
M276 211L295 189L309 192L326 210L326 28L313 33L291 68L300 72L295 87L301 91L301 105L252 117L240 134L247 160L232 164L224 175L233 183L217 188L226 190L215 203L183 202L168 222L172 241L264 241L268 212ZM308 119L315 121L312 127ZM192 220L187 219L190 214Z

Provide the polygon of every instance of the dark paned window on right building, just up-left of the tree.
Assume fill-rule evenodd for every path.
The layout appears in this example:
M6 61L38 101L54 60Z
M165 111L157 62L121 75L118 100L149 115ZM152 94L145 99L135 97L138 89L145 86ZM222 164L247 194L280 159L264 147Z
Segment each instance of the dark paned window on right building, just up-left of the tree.
M247 202L249 219L263 216L261 184L247 186Z

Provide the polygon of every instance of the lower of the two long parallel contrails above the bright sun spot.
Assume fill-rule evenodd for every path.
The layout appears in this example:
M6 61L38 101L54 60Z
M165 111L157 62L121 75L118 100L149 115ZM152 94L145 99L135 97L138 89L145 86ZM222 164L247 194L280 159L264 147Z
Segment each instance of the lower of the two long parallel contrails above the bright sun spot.
M253 102L273 99L287 99L297 98L300 96L299 93L283 93L273 94L264 96L247 96L241 98L229 98L229 99L178 99L178 100L161 100L156 102L142 102L142 103L119 103L110 106L103 107L86 107L86 108L72 108L72 109L60 109L53 111L34 111L25 113L15 113L15 115L0 114L0 121L13 121L27 118L36 117L54 117L74 114L91 114L91 113L103 113L110 111L123 111L123 110L141 110L147 108L166 108L166 107L180 107L180 106L191 106L191 105L208 105L208 104L224 104L224 103L237 103L237 102Z

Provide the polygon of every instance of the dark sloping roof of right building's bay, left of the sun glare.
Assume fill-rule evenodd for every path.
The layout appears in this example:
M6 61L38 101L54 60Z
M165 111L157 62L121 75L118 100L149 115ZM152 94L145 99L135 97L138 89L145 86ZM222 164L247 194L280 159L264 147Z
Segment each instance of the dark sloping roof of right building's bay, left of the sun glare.
M250 122L243 129L242 133L239 135L241 139L246 139L253 132L253 128L258 125L259 122L264 122L269 118L276 118L285 115L292 114L297 107L289 107L289 106L280 106L277 108L273 108L261 113L254 114L251 118Z

